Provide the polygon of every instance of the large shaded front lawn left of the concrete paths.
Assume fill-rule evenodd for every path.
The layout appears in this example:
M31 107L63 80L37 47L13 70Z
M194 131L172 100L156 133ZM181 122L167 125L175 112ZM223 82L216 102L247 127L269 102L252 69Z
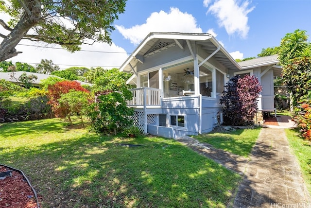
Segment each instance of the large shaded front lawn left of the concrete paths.
M104 137L58 119L2 124L0 164L29 177L43 208L225 208L241 181L173 139Z

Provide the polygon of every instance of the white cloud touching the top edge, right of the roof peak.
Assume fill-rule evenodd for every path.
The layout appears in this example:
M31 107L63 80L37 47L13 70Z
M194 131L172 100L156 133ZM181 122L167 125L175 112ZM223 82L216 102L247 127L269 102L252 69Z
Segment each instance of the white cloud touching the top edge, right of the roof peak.
M244 0L216 0L209 6L210 0L204 0L203 5L209 7L207 13L211 13L218 18L220 27L225 27L229 35L237 33L245 38L249 31L248 13L255 8L250 7L250 1Z

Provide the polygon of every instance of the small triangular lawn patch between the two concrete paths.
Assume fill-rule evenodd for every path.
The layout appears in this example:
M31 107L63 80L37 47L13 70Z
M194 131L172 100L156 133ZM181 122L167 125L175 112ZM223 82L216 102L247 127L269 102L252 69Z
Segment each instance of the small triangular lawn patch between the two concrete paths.
M248 157L259 133L260 128L237 129L232 132L210 132L194 138L200 142L211 144L216 149L223 149L239 156Z

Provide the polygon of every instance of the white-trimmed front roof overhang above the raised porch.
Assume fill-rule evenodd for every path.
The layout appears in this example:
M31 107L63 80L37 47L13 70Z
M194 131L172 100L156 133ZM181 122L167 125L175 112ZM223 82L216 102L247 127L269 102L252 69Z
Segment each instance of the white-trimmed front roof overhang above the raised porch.
M120 70L135 74L135 68L138 66L138 63L144 64L145 58L168 50L172 46L177 46L181 51L190 49L190 55L192 56L196 55L196 47L198 47L198 50L205 51L207 54L212 54L219 48L213 54L215 60L228 69L240 69L240 66L230 54L210 34L150 33L122 64ZM203 58L205 59L207 57Z

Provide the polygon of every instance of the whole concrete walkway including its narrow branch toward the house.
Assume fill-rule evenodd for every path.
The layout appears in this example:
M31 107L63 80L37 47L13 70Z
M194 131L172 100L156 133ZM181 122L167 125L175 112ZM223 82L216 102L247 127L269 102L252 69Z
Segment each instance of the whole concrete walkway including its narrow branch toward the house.
M290 117L278 117L278 126L265 126L246 159L190 137L179 142L227 169L243 175L243 181L227 208L311 208L311 196L289 148L284 128L294 127Z

